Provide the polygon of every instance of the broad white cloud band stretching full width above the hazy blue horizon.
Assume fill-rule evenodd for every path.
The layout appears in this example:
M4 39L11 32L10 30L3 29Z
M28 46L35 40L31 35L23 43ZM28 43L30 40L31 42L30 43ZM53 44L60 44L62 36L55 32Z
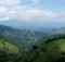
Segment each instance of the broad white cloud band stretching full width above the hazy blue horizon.
M26 22L48 22L48 21L65 21L64 12L55 12L41 9L9 9L6 7L0 7L0 21L26 21Z

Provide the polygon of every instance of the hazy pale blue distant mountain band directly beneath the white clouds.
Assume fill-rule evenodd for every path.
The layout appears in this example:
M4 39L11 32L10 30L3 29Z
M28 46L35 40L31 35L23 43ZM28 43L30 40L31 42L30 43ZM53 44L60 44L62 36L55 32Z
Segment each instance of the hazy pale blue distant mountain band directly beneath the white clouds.
M54 27L64 27L65 24L63 22L38 22L38 21L15 21L15 20L11 20L11 21L0 21L0 25L6 25L6 26L12 26L14 28L21 28L21 29L31 29L31 30L40 30L43 28L54 28Z

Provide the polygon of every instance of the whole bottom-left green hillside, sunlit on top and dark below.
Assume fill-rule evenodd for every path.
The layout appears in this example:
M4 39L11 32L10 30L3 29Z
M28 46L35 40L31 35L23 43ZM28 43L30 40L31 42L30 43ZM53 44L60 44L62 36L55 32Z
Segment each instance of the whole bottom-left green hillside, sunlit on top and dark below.
M16 45L0 39L0 62L14 62L20 51Z

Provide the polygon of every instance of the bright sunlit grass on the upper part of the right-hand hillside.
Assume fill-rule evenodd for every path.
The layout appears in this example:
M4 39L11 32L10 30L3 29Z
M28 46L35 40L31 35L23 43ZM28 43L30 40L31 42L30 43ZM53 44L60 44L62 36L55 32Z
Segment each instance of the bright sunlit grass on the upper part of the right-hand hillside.
M47 44L46 47L47 47L48 51L58 48L60 51L64 51L65 52L65 39L53 40L50 44Z

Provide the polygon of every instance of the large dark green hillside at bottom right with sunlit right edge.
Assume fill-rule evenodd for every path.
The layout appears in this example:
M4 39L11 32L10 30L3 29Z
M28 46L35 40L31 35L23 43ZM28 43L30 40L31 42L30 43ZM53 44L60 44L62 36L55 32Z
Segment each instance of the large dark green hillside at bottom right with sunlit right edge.
M42 46L34 46L26 52L23 62L65 62L65 39L53 39ZM60 61L61 60L61 61Z

